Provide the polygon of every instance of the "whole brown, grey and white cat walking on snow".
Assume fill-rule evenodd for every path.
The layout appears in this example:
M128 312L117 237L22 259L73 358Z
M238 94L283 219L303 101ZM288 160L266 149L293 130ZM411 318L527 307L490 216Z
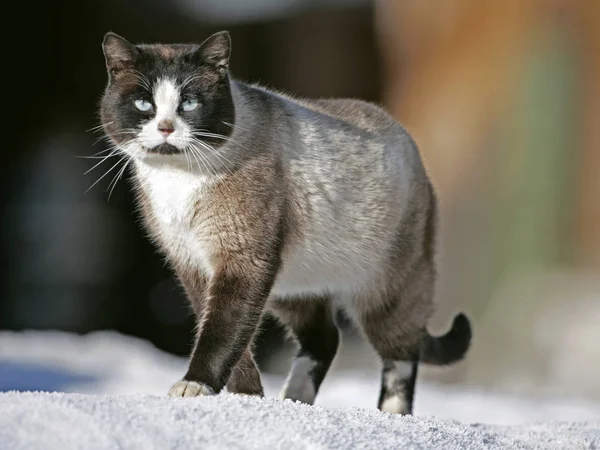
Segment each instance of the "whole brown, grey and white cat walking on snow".
M169 395L264 395L252 340L269 313L299 346L281 396L313 404L342 308L382 359L378 408L411 414L419 362L463 359L471 325L426 329L437 201L405 129L374 104L234 79L226 31L200 45L107 33L102 47L104 132L197 318Z

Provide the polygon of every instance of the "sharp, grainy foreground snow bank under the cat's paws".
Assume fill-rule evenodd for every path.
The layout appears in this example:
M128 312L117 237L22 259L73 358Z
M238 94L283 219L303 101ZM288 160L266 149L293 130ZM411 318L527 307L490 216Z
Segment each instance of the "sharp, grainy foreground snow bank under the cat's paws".
M3 449L564 450L600 445L591 425L508 429L231 394L168 399L10 392L0 396L0 410Z

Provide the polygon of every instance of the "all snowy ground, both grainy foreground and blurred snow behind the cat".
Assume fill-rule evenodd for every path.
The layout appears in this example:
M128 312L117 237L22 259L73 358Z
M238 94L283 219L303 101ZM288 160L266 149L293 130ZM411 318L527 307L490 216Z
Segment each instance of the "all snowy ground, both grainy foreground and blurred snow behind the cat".
M229 394L166 398L185 366L115 333L0 333L0 450L600 448L600 406L584 401L419 383L416 416L398 417L374 409L376 368L334 371L317 407ZM276 396L281 377L263 381ZM33 390L60 393L6 392Z

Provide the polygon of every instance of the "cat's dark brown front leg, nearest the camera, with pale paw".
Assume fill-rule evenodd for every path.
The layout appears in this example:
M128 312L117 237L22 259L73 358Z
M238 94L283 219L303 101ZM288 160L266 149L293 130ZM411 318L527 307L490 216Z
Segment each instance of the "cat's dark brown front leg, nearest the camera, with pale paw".
M172 397L213 395L223 389L249 348L278 269L273 255L221 261L197 309L196 345L183 380L169 391Z

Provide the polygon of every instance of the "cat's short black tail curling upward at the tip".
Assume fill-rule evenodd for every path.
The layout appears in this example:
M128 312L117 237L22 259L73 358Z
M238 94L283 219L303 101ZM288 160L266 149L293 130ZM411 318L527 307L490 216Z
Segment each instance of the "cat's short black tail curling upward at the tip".
M450 330L442 336L432 336L427 331L421 341L420 361L444 366L463 359L471 346L471 322L463 313L457 314Z

